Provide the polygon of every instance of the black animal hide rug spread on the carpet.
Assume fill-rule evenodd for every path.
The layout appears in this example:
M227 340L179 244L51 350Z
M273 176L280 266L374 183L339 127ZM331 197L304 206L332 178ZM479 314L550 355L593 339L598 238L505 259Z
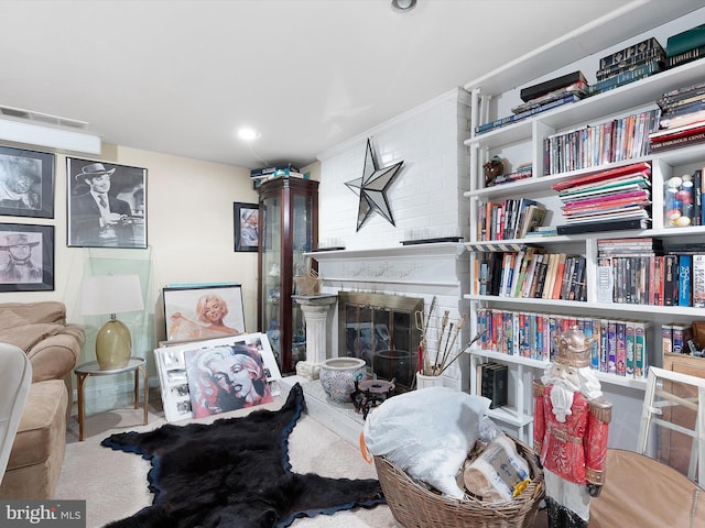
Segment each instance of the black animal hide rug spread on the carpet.
M151 461L148 480L154 493L152 506L108 526L285 527L297 517L384 503L377 480L291 471L289 436L303 409L296 384L280 410L106 438L102 446Z

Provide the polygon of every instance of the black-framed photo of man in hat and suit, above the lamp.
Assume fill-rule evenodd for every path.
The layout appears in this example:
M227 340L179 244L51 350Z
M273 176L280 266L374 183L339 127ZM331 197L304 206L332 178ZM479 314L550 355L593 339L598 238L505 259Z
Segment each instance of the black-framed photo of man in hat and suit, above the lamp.
M147 248L147 168L66 158L67 244Z

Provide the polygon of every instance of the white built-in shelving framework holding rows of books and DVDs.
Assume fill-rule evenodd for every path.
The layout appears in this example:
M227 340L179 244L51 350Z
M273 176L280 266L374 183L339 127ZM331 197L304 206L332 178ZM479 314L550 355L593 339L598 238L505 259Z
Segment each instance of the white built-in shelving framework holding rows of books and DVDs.
M566 35L554 45L534 51L522 57L520 61L509 63L505 67L488 74L487 76L468 82L465 88L473 91L474 105L478 110L474 113L474 124L485 110L501 109L511 106L511 102L519 102L518 89L521 85L531 80L557 77L564 73L585 67L587 61L595 58L597 66L598 57L622 50L627 45L637 44L646 38L643 33L649 32L654 35L675 34L671 31L676 26L691 28L694 22L684 14L692 10L699 10L698 16L705 13L705 2L688 2L686 8L679 2L664 2L660 0L636 0L630 2L622 10L621 16L604 20L600 24L581 30L572 35ZM679 11L669 13L670 8L679 8ZM654 15L654 9L662 10ZM648 13L648 14L647 14ZM668 14L666 14L668 13ZM639 20L632 20L633 18ZM651 26L643 25L644 20L650 19ZM677 20L676 20L677 19ZM655 21L655 22L653 22ZM654 29L654 26L657 26ZM653 30L653 31L652 31ZM684 30L680 30L684 31ZM596 37L599 35L599 37ZM622 35L619 41L618 35ZM650 35L651 36L651 35ZM626 45L619 45L619 43ZM665 38L660 37L660 42L665 45ZM577 43L585 43L582 54L574 47ZM577 46L579 48L581 46ZM599 54L598 54L599 52ZM588 57L589 55L589 57ZM581 62L582 59L586 59ZM553 67L550 67L553 65ZM571 68L571 69L568 69ZM596 67L597 69L597 67ZM551 74L551 77L549 77ZM651 77L637 80L619 88L583 99L572 105L565 105L555 109L539 113L507 127L490 130L482 134L473 134L464 143L469 151L469 178L470 190L464 196L469 201L470 215L475 215L476 208L482 202L501 202L508 199L525 197L536 199L544 204L551 211L551 223L558 226L564 222L561 215L562 202L553 185L572 180L588 173L600 169L614 168L622 165L630 165L639 162L652 163L652 229L630 230L630 231L606 231L558 237L529 237L514 240L478 241L477 217L470 218L470 240L465 244L465 249L470 252L470 274L475 273L476 257L481 252L487 251L512 251L503 250L508 245L540 245L551 253L573 253L581 254L586 258L586 280L587 301L571 301L560 299L543 298L514 298L487 295L475 295L466 293L463 298L470 305L470 328L477 328L477 310L480 308L496 308L498 310L561 314L571 316L587 316L608 319L632 319L650 323L649 327L649 349L650 363L660 365L660 326L671 322L687 322L694 319L705 319L705 309L680 307L680 306L652 306L631 304L606 304L596 302L597 299L597 241L608 238L638 238L653 237L670 239L679 243L691 241L705 241L705 226L688 227L681 229L663 229L665 224L663 184L679 170L692 173L693 168L705 166L705 144L691 145L687 147L657 152L649 156L625 160L603 166L586 167L578 170L565 172L561 174L543 175L544 140L556 133L565 133L573 130L583 129L586 125L597 125L614 119L619 119L628 114L657 108L655 101L666 91L684 88L705 78L705 59L695 61L669 69ZM486 97L487 96L487 97ZM495 97L499 96L499 97ZM492 102L495 101L495 102ZM492 116L490 121L505 116ZM529 161L533 164L533 175L530 178L521 179L511 184L484 187L482 164L491 156L500 155L512 164ZM475 248L469 248L475 245ZM475 283L476 277L471 277ZM509 391L510 406L491 409L489 416L507 426L513 427L520 437L531 437L533 428L533 394L531 391L531 378L540 377L549 362L531 360L516 355L508 355L496 351L485 351L474 349L470 351L471 365L471 388L477 394L479 391L478 380L475 369L479 362L496 361L509 365ZM646 391L646 380L619 376L594 371L603 391L611 394L615 398L615 420L612 427L616 430L627 428L622 431L622 437L628 435L638 422L643 403L643 391ZM636 426L638 428L638 424ZM623 435L627 432L627 435ZM612 447L626 447L614 444ZM627 447L627 449L630 449Z

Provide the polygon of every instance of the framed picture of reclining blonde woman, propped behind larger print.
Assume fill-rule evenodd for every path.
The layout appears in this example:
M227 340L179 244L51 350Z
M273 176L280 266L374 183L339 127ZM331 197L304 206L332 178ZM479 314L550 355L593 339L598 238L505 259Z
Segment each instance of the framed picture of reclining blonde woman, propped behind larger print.
M166 341L193 341L245 333L239 284L167 286L164 296Z

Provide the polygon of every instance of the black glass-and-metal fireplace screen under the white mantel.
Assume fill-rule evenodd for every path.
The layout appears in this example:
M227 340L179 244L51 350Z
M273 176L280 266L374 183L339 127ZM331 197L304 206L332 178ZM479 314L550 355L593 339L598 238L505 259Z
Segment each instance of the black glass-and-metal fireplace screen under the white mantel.
M338 293L339 356L360 358L368 372L411 388L417 370L421 331L414 312L423 299L384 294Z

